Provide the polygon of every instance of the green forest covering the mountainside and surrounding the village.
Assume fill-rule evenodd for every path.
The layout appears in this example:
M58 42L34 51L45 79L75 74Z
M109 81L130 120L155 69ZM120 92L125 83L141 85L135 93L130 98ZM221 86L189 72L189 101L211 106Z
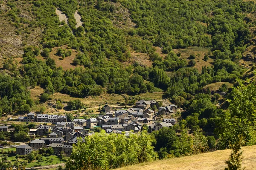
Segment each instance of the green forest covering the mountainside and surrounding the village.
M255 46L256 20L250 17L256 10L254 1L0 0L0 5L8 9L0 8L0 18L15 29L15 36L24 36L20 62L17 56L1 59L0 117L33 111L57 92L86 98L104 91L132 96L161 90L163 98L184 110L172 129L143 131L130 138L103 132L88 137L88 142L74 147L77 153L67 161L71 170L81 165L110 169L225 149L239 135L245 145L256 144L254 58L247 63L244 55ZM59 20L56 9L67 16L67 23ZM23 11L29 17L22 17ZM36 30L37 43L29 43ZM183 53L192 47L207 52ZM1 45L0 52L4 48ZM53 49L63 60L77 51L72 61L76 67L57 66L50 56ZM127 64L133 53L148 55L151 66ZM198 69L201 63L208 65ZM205 88L213 83L222 83L215 92L227 92L224 98ZM40 101L30 95L36 86L44 89ZM68 103L70 109L83 107L79 100ZM187 135L188 129L193 137ZM181 130L179 136L175 130Z

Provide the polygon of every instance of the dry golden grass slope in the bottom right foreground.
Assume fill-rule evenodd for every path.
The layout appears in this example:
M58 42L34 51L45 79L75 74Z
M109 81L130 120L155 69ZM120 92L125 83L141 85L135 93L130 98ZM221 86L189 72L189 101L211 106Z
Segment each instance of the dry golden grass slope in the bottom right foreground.
M243 147L242 166L245 170L256 169L256 146ZM116 170L224 170L231 150L218 150L181 158L145 162Z

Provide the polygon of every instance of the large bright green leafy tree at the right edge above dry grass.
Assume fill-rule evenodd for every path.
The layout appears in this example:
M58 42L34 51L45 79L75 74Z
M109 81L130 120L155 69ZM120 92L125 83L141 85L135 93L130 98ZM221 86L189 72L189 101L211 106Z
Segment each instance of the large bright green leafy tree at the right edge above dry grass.
M245 145L255 144L256 86L247 82L238 80L238 86L233 87L228 100L229 111L219 118L215 133L219 135L218 147L221 149L227 148L229 143L235 144L239 135L244 136Z

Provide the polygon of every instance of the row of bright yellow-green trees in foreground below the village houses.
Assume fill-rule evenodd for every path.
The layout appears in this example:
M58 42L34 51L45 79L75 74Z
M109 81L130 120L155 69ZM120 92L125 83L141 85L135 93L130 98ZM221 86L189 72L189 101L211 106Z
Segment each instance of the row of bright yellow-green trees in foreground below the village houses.
M152 139L147 132L140 135L96 133L79 140L73 146L73 152L67 161L66 168L77 169L110 169L157 158L151 146Z

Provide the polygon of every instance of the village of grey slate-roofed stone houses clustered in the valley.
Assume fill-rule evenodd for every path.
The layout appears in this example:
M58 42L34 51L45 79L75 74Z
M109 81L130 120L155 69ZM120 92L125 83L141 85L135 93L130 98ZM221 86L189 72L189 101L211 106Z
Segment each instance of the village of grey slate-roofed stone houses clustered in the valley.
M154 112L151 108L158 108ZM21 122L41 122L33 129L29 129L27 134L31 141L29 144L16 147L16 154L27 155L32 150L38 150L43 147L52 147L54 153L70 155L73 144L76 144L81 137L82 142L88 135L93 135L96 128L105 130L106 133L140 133L143 126L148 127L148 133L154 130L160 130L163 127L172 127L177 123L172 118L177 112L177 106L170 104L166 107L159 107L157 101L137 101L135 106L129 109L112 110L106 104L104 115L98 115L96 118L81 119L74 118L67 122L66 115L36 114L29 112L26 116L20 116L17 121ZM162 116L161 116L162 115ZM162 118L165 115L166 118ZM52 123L52 125L47 125ZM0 131L8 132L8 126L0 126Z

